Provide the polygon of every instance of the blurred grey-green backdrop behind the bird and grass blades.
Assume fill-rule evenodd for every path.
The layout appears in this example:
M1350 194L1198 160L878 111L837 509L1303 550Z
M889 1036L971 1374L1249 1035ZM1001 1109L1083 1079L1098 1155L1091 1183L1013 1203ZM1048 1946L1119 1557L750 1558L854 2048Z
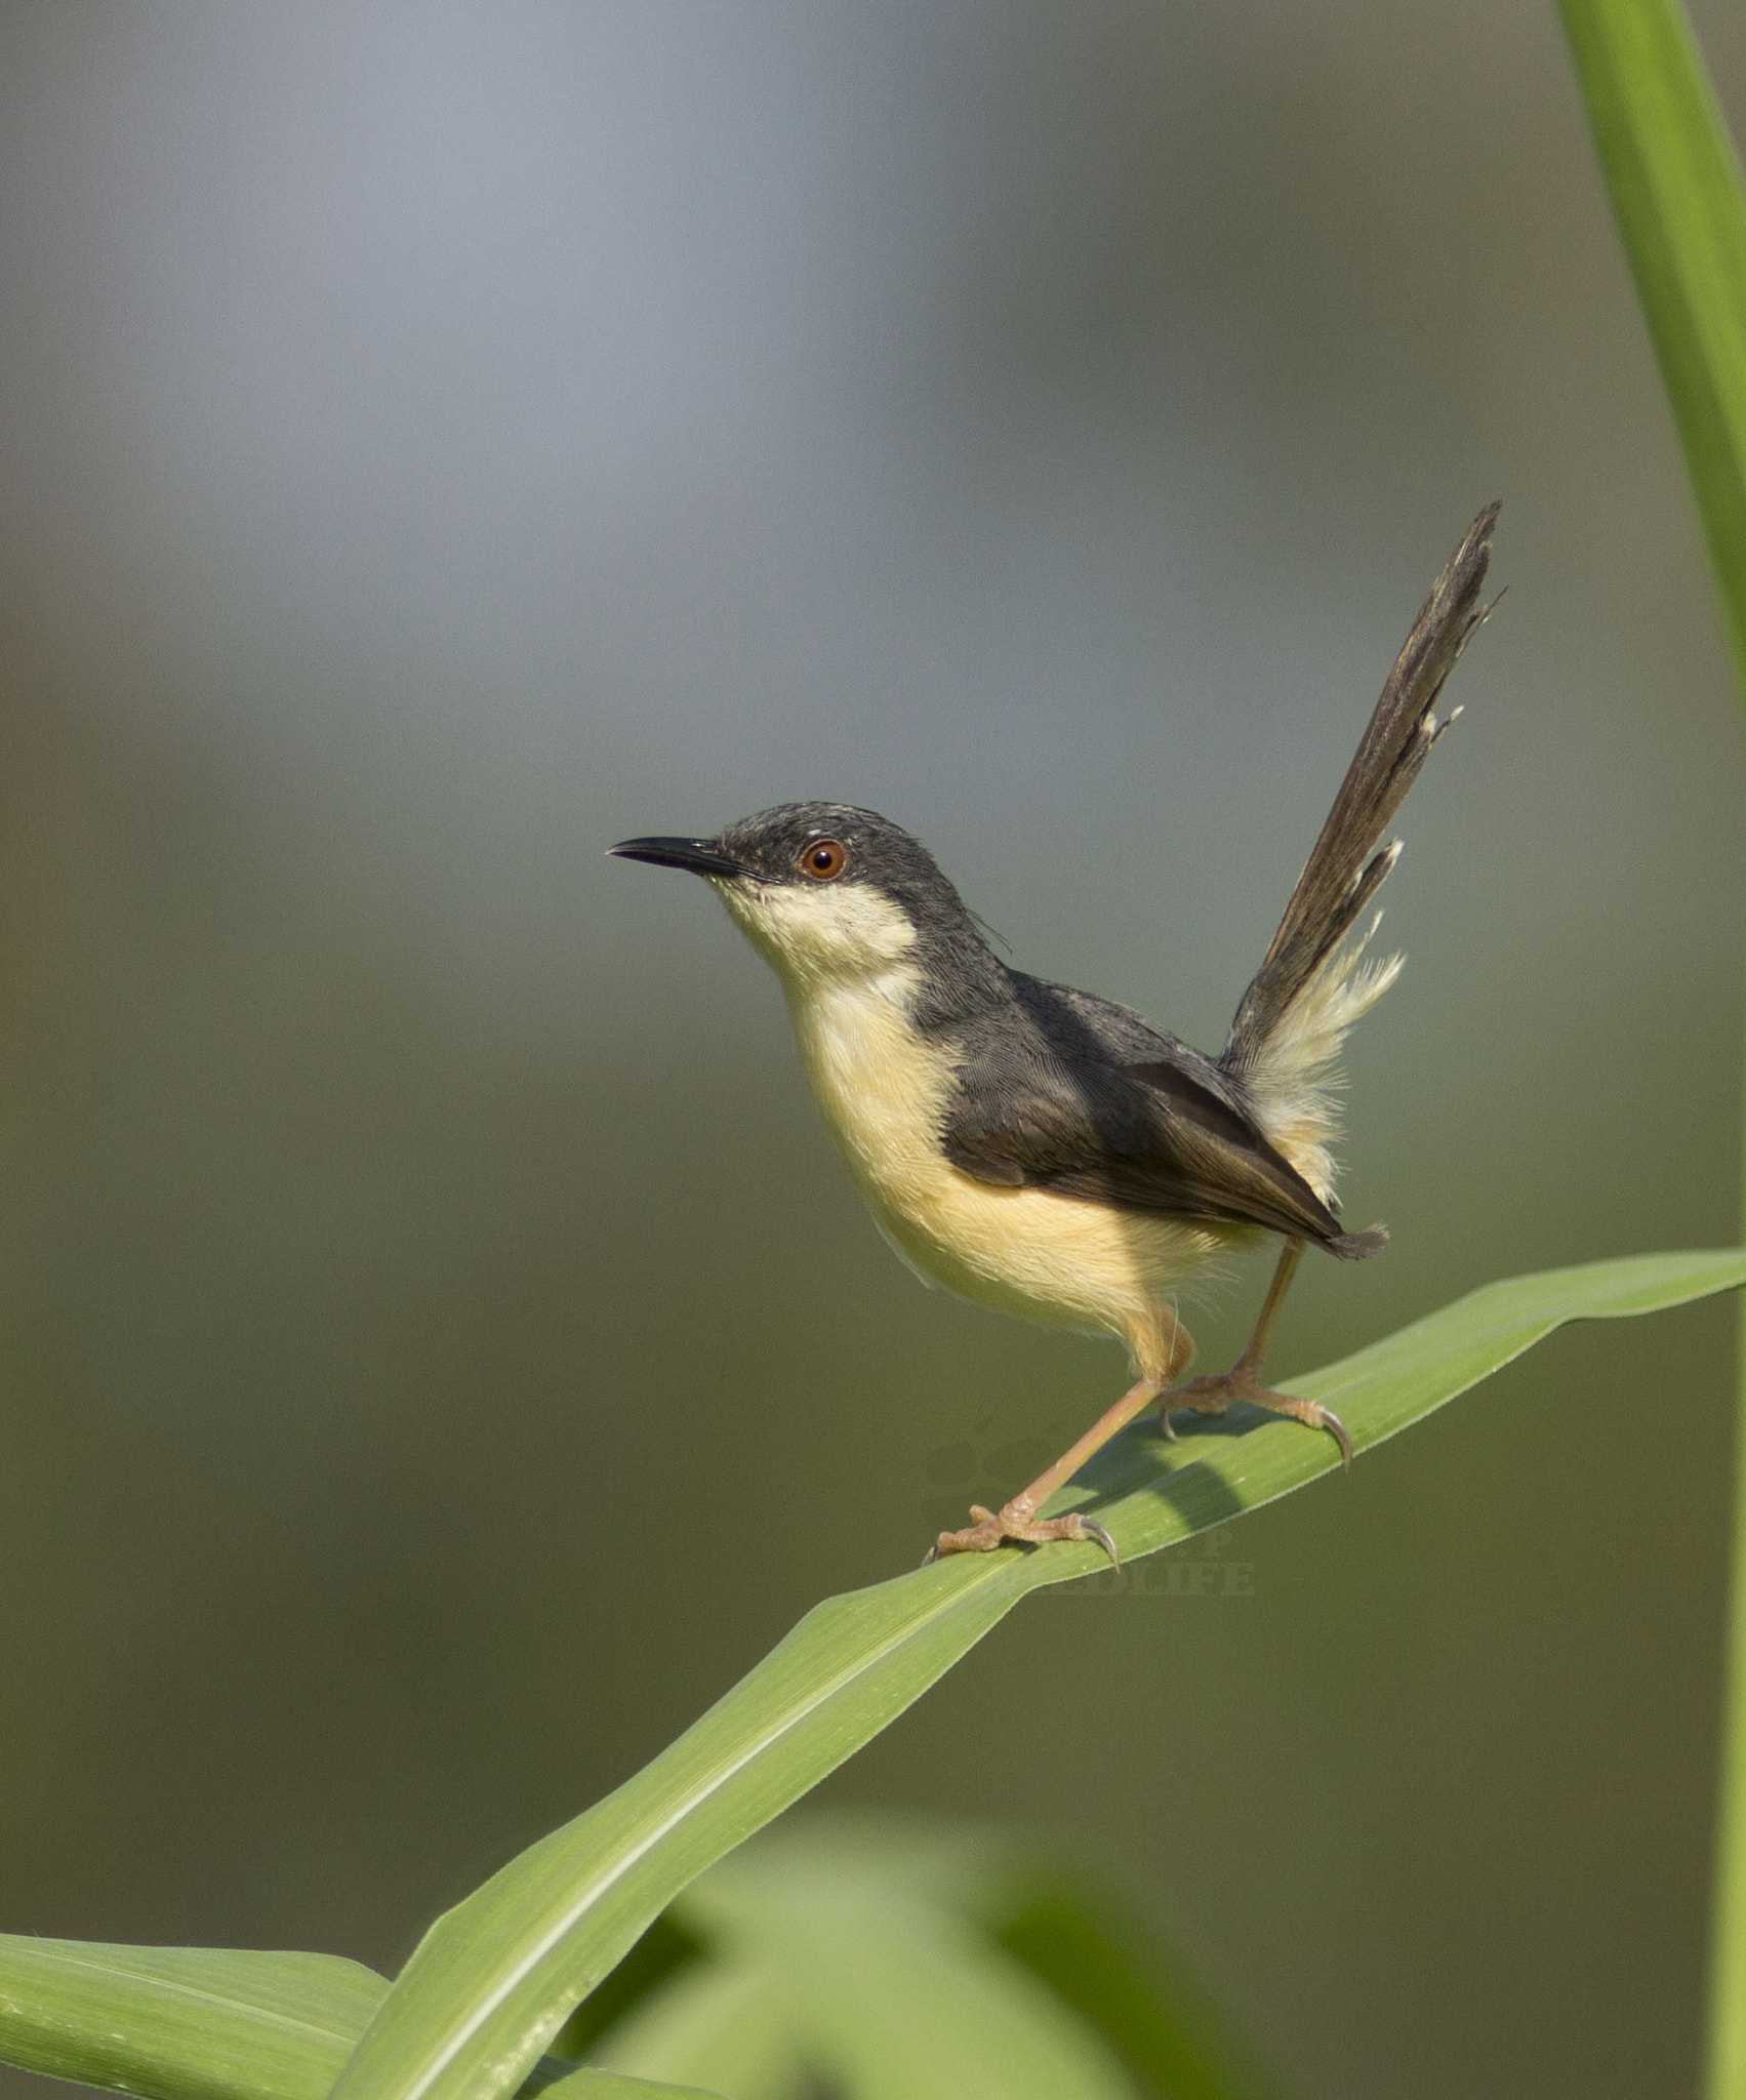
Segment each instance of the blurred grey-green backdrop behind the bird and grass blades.
M1274 1361L1736 1235L1746 758L1549 6L0 29L0 1928L392 1968L1119 1388L892 1260L630 832L873 804L1217 1048L1500 496L1393 1247ZM1687 2085L1729 1331L1039 1598L825 1798L1077 1833L1293 2094Z

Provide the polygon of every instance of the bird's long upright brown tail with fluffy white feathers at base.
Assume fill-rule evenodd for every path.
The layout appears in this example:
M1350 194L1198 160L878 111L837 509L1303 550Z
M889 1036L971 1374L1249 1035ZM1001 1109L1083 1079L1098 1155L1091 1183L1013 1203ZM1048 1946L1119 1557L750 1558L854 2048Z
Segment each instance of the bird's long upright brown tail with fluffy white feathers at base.
M1219 1058L1268 1138L1324 1201L1335 1180L1328 1151L1335 1117L1326 1096L1333 1065L1345 1031L1400 972L1398 956L1362 962L1375 924L1360 941L1341 943L1400 859L1400 840L1381 853L1377 840L1454 720L1438 722L1431 710L1496 603L1479 601L1496 517L1498 504L1488 504L1473 519L1412 622Z

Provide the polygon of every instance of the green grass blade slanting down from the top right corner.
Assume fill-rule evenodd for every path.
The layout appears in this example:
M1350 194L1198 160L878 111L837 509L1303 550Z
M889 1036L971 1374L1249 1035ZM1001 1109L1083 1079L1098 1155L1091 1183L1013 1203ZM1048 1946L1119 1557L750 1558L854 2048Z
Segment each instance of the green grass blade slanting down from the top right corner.
M1675 0L1559 0L1746 697L1746 191ZM1742 1949L1746 1953L1746 1949Z

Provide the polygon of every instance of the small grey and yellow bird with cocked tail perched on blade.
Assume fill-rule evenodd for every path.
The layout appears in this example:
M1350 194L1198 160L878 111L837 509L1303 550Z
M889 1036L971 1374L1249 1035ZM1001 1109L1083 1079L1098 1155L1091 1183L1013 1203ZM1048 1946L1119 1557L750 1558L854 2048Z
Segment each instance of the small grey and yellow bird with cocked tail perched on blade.
M1492 611L1479 592L1496 514L1479 512L1431 586L1219 1056L1009 968L928 848L875 811L785 802L716 838L611 848L703 876L774 968L825 1128L923 1281L1127 1344L1127 1392L930 1558L1095 1539L1116 1560L1081 1510L1039 1512L1152 1403L1173 1436L1173 1409L1249 1401L1326 1430L1351 1464L1339 1415L1261 1384L1261 1361L1305 1245L1356 1262L1387 1243L1335 1214L1328 1088L1347 1029L1400 972L1398 956L1364 958L1377 920L1360 920L1400 857L1377 842L1454 720L1431 710ZM1282 1247L1242 1354L1177 1384L1194 1354L1179 1287L1268 1233Z

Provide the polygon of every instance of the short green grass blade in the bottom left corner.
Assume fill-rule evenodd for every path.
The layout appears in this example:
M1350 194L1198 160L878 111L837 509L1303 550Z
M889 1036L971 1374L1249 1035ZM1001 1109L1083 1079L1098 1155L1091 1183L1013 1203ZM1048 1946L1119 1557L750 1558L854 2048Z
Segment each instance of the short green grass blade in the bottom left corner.
M0 2062L155 2100L321 2100L388 1980L336 1955L0 1938Z

